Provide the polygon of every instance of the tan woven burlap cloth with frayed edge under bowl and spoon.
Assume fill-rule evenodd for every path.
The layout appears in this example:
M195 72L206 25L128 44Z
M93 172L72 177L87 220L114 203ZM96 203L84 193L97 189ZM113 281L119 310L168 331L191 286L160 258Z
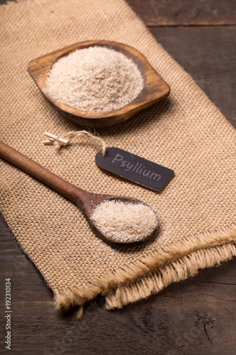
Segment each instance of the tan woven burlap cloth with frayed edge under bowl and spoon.
M112 248L74 204L1 160L1 212L53 290L56 307L83 305L99 293L107 309L123 307L236 255L235 130L125 1L29 0L0 10L1 140L74 185L135 197L159 216L152 243ZM124 124L97 130L108 146L173 169L161 193L99 170L98 149L89 141L60 153L43 146L44 131L63 135L79 126L47 104L28 62L93 39L137 48L172 89L169 99Z

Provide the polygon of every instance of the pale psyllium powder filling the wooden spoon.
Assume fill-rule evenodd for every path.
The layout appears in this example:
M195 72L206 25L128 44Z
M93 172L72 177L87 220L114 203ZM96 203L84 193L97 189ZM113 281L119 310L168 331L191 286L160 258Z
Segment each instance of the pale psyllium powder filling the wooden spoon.
M91 219L108 238L116 241L138 241L157 227L157 215L145 204L103 201L96 205Z

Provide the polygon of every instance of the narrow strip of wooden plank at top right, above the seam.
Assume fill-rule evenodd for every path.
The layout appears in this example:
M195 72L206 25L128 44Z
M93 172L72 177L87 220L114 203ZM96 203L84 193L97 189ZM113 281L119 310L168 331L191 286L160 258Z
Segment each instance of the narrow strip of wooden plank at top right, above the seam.
M236 24L232 0L126 0L146 26Z

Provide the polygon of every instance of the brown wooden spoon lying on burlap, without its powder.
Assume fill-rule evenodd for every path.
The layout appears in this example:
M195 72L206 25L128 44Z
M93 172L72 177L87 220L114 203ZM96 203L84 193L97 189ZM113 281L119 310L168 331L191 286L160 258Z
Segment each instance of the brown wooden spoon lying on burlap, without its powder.
M148 206L144 202L140 200L133 199L131 197L123 197L116 195L105 195L105 194L94 194L93 192L87 192L85 190L80 189L77 186L72 185L71 183L63 180L59 176L51 173L50 170L43 168L43 166L35 163L33 160L26 157L16 151L15 149L7 146L5 143L0 142L0 156L5 160L9 161L9 163L16 165L18 168L33 176L34 178L40 180L45 185L52 187L55 191L59 192L62 196L66 197L68 200L76 204L82 211L89 222L89 226L91 229L100 236L103 241L106 241L108 244L113 246L122 246L122 247L130 247L130 246L138 246L141 244L147 243L147 241L152 240L156 236L156 232L158 229L157 226L153 229L152 233L148 236L140 238L136 241L118 241L109 238L104 235L97 227L94 221L91 219L91 215L93 209L97 204L107 201L107 200L117 200L120 202L131 202L133 204L144 204ZM149 206L148 206L149 207ZM150 207L151 209L151 207ZM155 212L154 212L155 213Z

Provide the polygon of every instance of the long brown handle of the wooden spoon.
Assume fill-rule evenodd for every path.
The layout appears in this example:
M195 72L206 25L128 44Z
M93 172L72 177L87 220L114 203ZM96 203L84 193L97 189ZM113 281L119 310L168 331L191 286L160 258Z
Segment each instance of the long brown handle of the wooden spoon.
M80 189L77 186L72 185L66 180L60 178L59 176L51 173L50 170L43 168L35 161L27 158L26 155L23 155L16 151L15 149L7 146L5 143L0 141L0 157L7 160L9 163L16 165L17 168L23 170L25 173L33 176L43 182L45 185L52 187L53 190L56 190L61 195L66 197L68 200L77 204L79 207L84 207L86 200L89 199L90 192L86 192Z

